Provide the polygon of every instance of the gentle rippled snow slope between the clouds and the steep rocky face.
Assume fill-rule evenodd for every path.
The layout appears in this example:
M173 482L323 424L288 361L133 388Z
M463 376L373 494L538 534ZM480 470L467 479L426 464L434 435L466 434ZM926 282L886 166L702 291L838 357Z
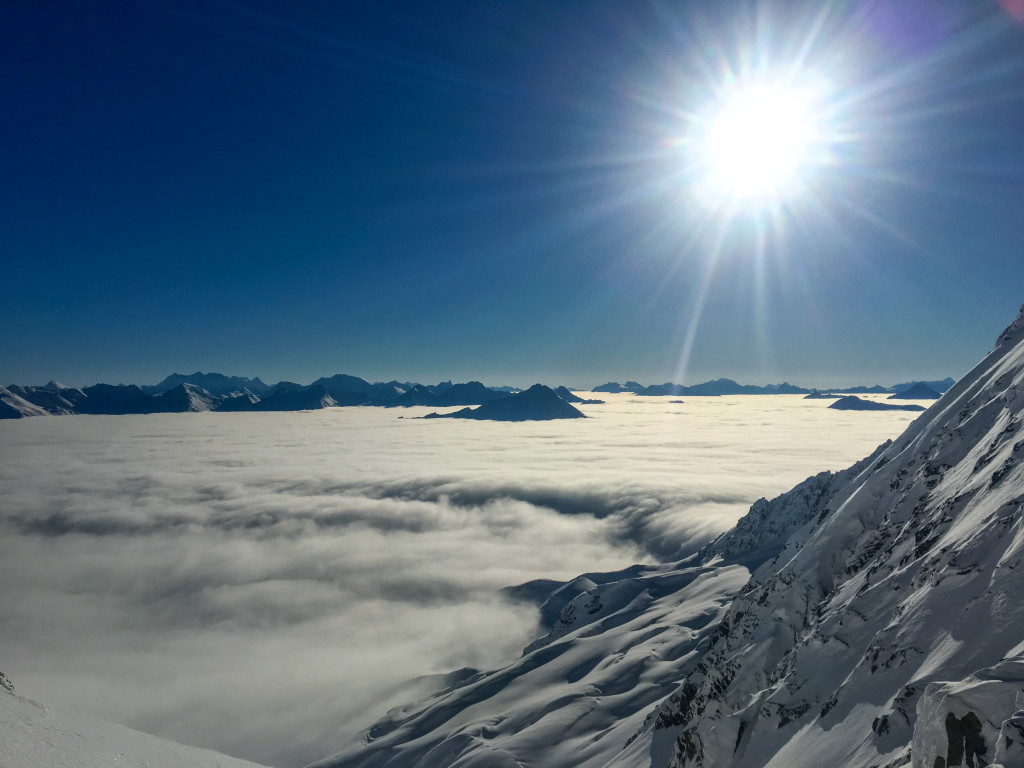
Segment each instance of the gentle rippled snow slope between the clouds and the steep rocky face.
M316 765L599 768L696 664L748 577L691 558L573 580L555 597L551 632L521 658L392 710L361 744Z

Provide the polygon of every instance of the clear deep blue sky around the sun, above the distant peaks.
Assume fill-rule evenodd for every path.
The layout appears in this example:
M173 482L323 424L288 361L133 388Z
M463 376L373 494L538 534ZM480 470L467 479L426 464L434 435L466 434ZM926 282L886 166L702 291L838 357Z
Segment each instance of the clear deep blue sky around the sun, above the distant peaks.
M709 223L686 115L801 51L838 162ZM8 2L0 71L4 384L893 383L1024 302L994 2Z

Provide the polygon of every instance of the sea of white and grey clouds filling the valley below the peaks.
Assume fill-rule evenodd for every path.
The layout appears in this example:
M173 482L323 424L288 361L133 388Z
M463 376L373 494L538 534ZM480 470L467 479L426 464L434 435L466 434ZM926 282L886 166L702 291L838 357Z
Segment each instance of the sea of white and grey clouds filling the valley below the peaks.
M304 765L429 676L518 655L537 610L503 587L683 556L915 416L601 396L562 422L0 422L0 670L48 706Z

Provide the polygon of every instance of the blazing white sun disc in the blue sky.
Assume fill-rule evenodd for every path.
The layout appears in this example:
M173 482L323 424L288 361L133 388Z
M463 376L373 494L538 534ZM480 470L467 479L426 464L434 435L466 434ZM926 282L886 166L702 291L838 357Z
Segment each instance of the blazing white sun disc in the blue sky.
M820 88L783 80L731 81L695 121L702 195L755 207L797 197L822 161Z

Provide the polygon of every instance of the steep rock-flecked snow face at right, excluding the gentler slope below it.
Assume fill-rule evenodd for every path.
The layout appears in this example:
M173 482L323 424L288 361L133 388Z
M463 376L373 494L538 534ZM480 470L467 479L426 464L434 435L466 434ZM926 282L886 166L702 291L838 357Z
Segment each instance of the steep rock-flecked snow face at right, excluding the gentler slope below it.
M813 768L839 756L843 766L895 766L915 729L943 731L936 684L1019 652L1022 382L1024 308L981 364L755 572L701 663L612 765L665 765L639 760L645 752L671 755L672 768ZM972 716L1012 719L1006 700ZM952 741L967 714L954 716ZM986 762L993 728L976 734Z

